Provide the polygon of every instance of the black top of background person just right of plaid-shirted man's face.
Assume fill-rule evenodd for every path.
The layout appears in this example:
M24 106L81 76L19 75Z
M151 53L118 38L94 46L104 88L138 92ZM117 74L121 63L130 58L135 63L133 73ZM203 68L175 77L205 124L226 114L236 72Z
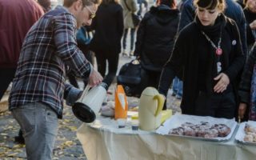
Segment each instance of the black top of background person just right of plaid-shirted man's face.
M101 4L91 29L95 30L90 50L101 54L117 55L121 52L121 38L124 30L122 6L118 3Z

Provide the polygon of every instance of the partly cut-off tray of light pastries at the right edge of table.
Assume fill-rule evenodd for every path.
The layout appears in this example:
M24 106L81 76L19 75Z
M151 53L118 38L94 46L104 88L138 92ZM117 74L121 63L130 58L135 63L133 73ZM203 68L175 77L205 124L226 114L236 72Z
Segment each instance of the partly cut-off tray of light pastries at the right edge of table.
M256 122L242 122L235 135L238 142L256 145Z

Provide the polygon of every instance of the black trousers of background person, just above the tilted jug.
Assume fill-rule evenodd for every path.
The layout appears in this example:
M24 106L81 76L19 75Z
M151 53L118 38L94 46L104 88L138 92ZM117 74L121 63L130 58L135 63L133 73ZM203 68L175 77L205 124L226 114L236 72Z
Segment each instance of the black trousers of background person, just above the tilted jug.
M102 74L102 77L104 78L102 82L105 82L107 86L110 86L117 74L119 55L95 53L95 57L97 59L98 72ZM106 61L108 62L107 74L106 74Z

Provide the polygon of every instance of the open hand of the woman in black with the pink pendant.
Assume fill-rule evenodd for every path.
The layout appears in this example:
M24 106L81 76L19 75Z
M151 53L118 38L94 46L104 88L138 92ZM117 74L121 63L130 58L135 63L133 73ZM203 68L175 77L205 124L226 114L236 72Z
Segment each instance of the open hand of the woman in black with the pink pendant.
M222 93L226 90L226 86L230 84L230 78L226 74L218 74L217 77L214 78L218 83L214 86L214 92Z

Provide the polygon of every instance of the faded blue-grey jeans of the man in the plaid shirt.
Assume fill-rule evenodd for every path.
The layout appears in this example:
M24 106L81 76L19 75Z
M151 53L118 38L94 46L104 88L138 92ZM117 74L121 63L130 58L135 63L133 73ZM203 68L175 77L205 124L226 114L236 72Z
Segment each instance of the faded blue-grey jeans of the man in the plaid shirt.
M44 103L31 102L11 110L22 128L28 160L51 160L58 133L57 114Z

